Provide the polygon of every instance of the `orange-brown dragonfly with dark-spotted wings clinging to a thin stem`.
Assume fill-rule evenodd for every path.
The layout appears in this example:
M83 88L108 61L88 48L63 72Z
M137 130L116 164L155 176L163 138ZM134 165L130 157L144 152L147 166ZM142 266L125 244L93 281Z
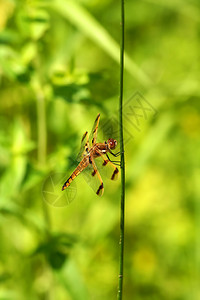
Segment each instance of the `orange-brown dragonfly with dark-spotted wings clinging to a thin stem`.
M108 155L111 154L114 157L120 155L120 152L112 152L117 146L117 141L113 138L109 138L103 143L97 143L99 120L100 114L98 114L95 119L90 137L87 131L83 134L81 148L78 154L78 160L80 162L71 176L63 184L62 190L67 189L72 181L84 170L88 171L89 184L98 196L102 196L104 193L104 184L98 168L106 168L106 173L109 174L111 180L118 179L119 170L116 165L120 165L120 162L112 161ZM96 164L97 160L99 167L97 167Z

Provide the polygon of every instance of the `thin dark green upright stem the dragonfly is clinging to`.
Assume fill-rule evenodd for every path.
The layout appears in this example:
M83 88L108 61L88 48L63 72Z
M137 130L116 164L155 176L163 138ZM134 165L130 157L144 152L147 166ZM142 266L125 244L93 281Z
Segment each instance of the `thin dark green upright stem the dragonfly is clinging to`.
M123 296L124 269L124 209L125 209L125 161L123 139L123 88L124 88L124 0L121 0L121 47L120 47L120 88L119 88L119 127L121 153L121 210L120 210L120 253L119 253L119 283L118 300Z

